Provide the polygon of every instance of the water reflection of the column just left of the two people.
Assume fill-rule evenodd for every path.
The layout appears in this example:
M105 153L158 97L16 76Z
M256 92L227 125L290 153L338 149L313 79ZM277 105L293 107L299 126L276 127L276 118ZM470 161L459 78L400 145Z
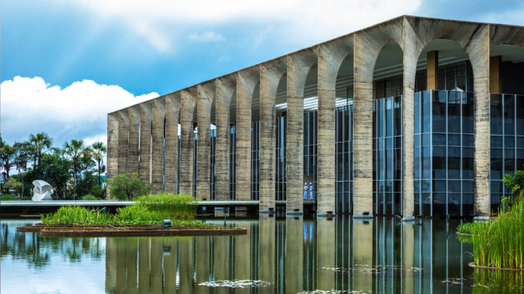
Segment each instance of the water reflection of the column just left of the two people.
M303 227L302 217L286 218L286 293L298 293L303 289Z

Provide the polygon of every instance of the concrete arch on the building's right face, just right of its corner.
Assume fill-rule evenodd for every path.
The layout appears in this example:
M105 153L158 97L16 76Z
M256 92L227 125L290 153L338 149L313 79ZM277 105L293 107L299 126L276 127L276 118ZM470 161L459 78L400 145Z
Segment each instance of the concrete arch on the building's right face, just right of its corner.
M412 105L416 63L422 50L431 41L435 39L454 40L461 45L470 58L474 78L474 213L487 217L489 216L490 200L489 54L487 54L490 43L489 25L413 17L404 19L404 44L405 48L411 48L410 52L405 53L404 60L405 105L408 103ZM411 119L411 115L405 117L406 119ZM411 212L409 208L405 209L405 214L410 215L409 212Z

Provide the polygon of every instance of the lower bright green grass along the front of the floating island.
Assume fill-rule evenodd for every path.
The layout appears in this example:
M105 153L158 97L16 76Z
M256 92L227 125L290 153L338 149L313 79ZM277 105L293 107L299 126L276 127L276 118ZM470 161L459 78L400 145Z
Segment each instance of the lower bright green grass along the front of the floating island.
M161 224L164 214L151 211L147 206L136 203L121 208L117 214L103 212L102 209L86 209L79 206L62 206L54 213L40 214L43 224L83 224L83 225L131 225ZM172 219L172 225L203 226L199 220Z

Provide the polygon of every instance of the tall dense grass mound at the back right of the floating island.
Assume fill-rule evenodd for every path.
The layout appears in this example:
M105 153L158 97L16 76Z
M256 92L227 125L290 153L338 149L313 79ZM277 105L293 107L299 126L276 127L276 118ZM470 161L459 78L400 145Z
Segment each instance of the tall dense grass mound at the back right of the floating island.
M151 211L157 211L165 218L191 218L196 216L199 199L191 195L172 193L141 196L137 201Z

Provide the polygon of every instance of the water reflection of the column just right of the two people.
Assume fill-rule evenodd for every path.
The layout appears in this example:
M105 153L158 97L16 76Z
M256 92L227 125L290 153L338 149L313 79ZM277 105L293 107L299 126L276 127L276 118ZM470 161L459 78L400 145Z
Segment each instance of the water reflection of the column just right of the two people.
M316 220L316 268L333 267L335 263L335 220L319 218ZM317 289L335 289L335 272L320 269L317 271Z

